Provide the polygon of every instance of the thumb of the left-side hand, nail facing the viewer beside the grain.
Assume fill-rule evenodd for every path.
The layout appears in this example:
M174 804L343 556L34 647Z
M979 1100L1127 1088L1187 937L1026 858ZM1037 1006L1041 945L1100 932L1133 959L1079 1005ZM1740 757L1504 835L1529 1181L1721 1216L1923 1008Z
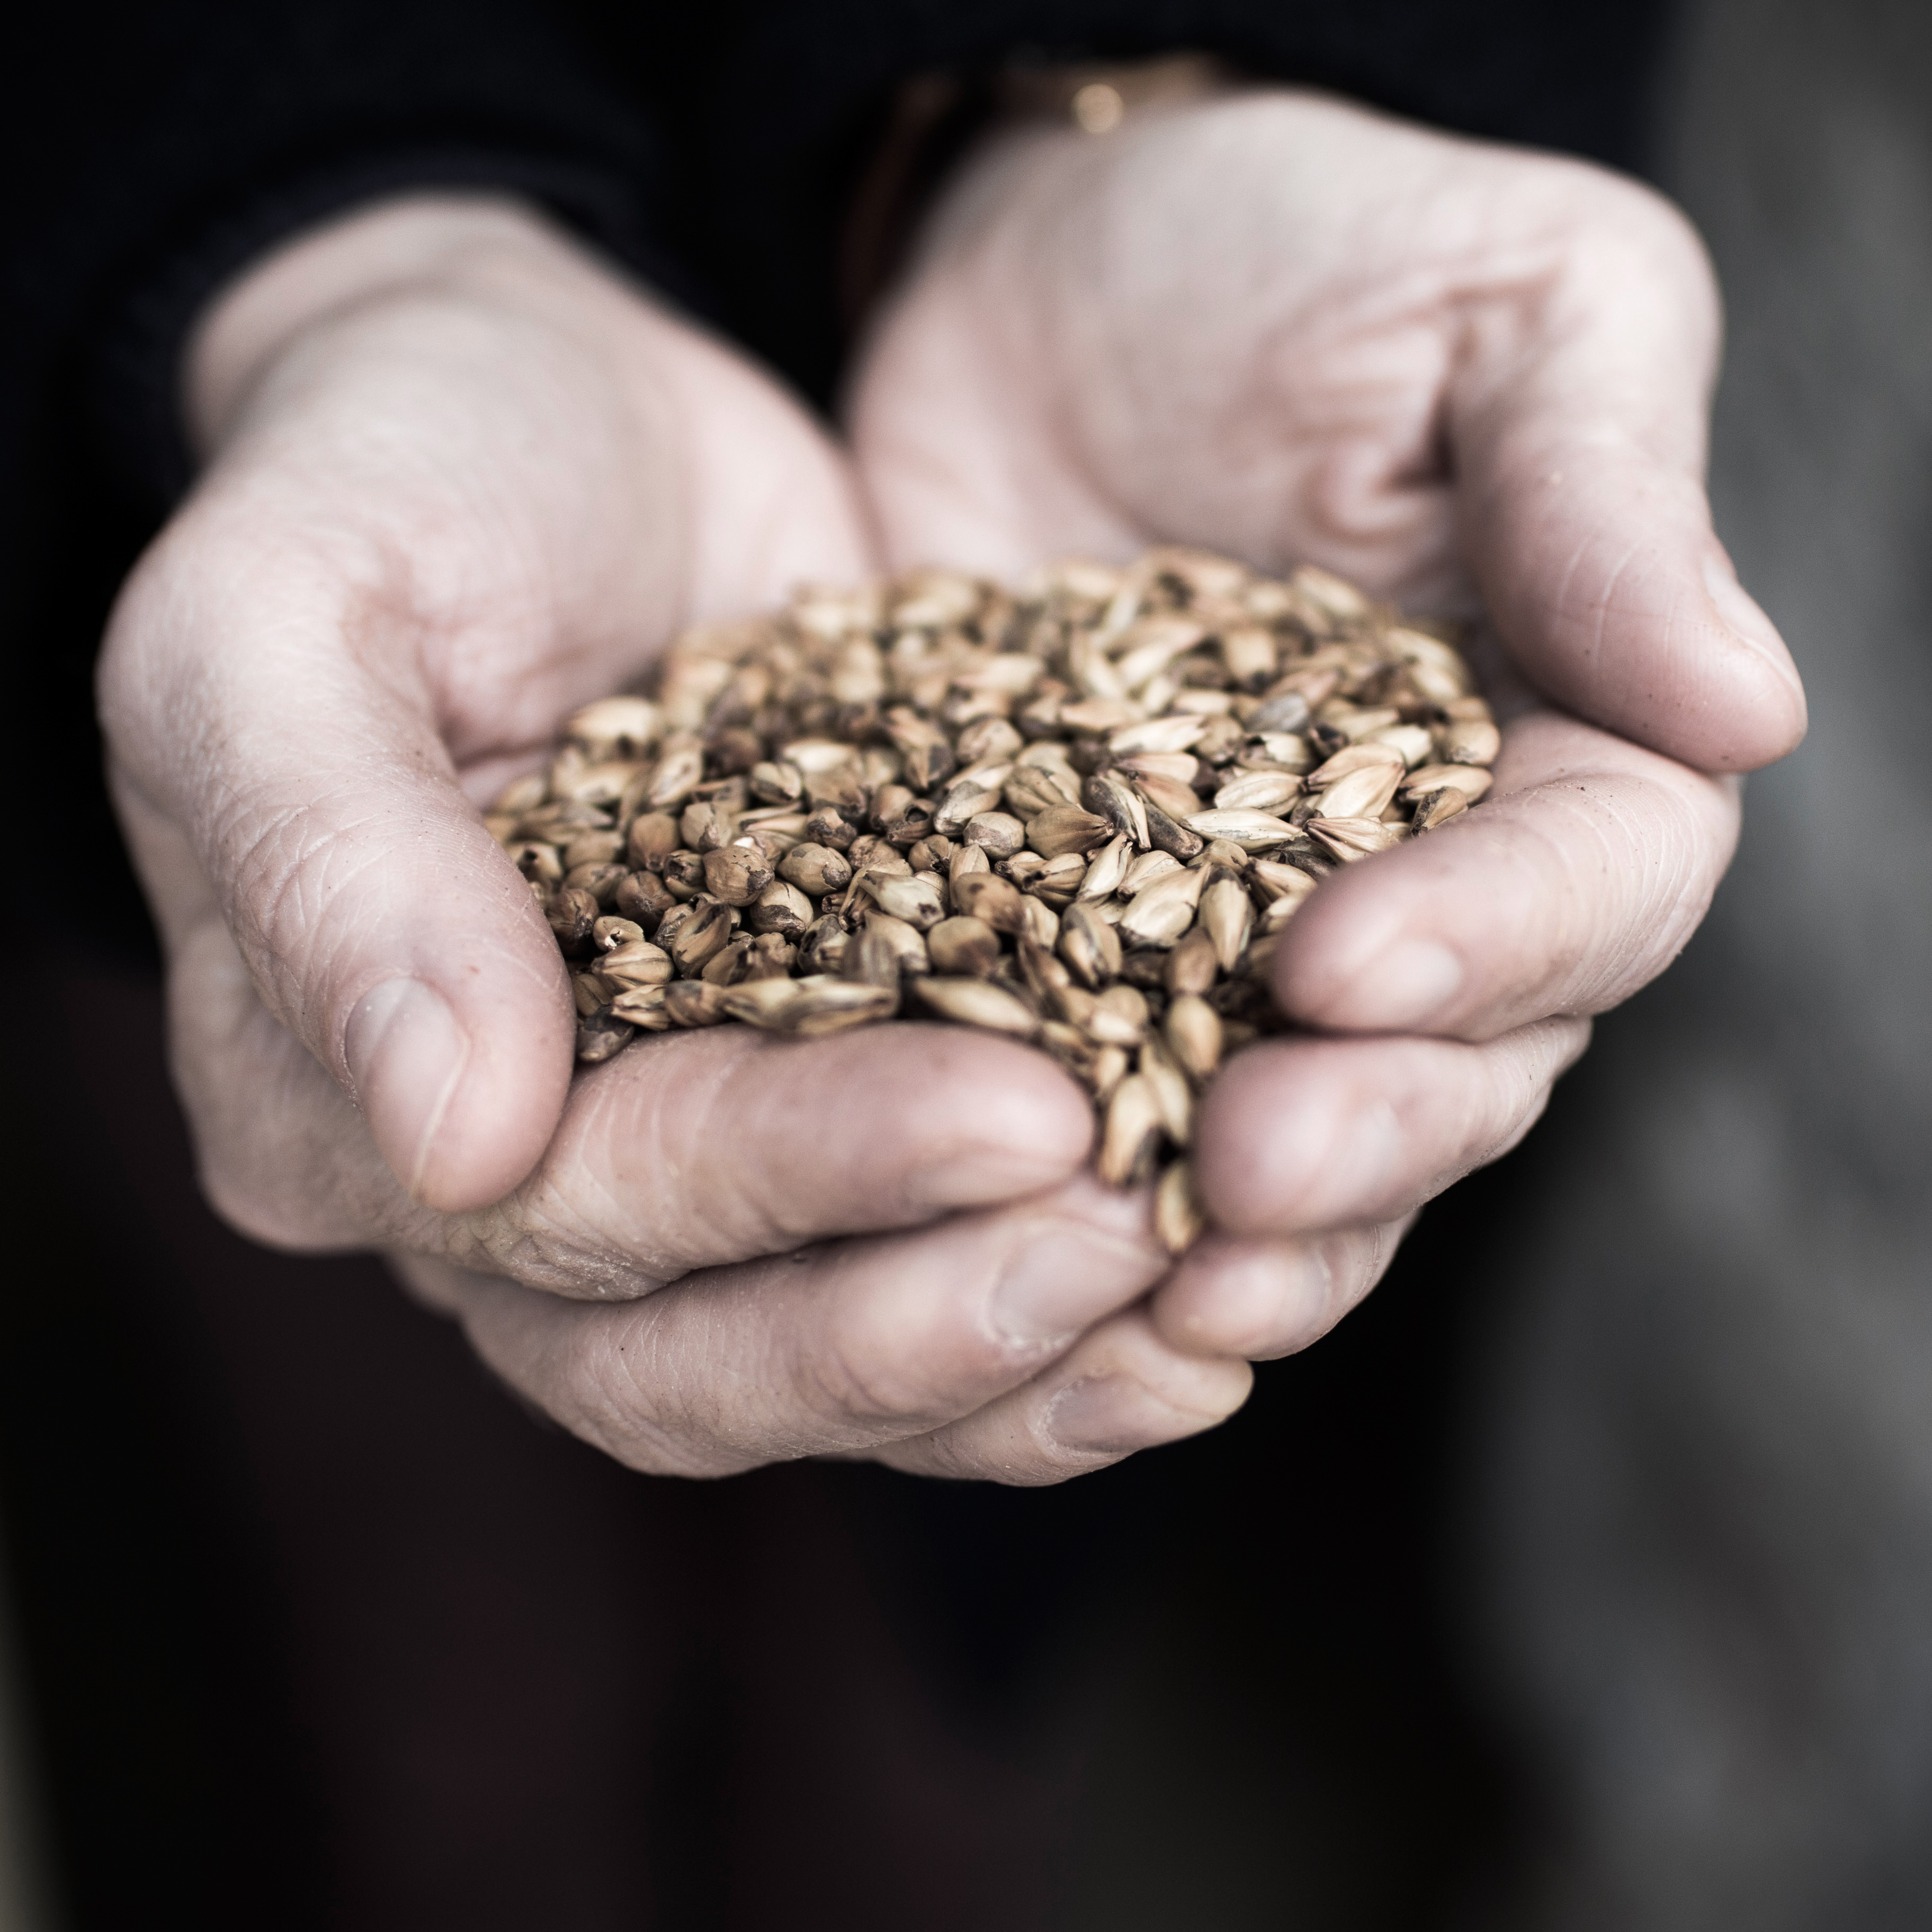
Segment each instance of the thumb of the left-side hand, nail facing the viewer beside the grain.
M118 771L187 835L263 1001L410 1194L495 1202L570 1082L556 945L456 781L394 587L207 524L178 518L108 626Z

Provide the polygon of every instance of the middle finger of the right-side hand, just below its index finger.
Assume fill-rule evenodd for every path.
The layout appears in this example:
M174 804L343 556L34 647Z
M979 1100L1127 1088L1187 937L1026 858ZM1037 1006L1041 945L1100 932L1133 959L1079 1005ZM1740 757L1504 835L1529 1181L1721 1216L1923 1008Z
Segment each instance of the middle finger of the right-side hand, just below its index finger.
M1236 1053L1202 1099L1196 1180L1231 1235L1393 1221L1536 1122L1586 1020L1445 1039L1287 1039Z

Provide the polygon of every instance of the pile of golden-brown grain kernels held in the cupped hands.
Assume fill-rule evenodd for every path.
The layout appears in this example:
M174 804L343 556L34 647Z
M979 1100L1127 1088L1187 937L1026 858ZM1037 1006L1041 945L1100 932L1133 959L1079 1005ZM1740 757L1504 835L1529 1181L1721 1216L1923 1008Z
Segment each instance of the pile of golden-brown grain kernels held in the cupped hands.
M1495 752L1439 626L1161 549L694 630L487 823L570 960L582 1061L721 1020L1026 1039L1094 1094L1105 1180L1173 1150L1179 1252L1194 1101L1279 1024L1277 935L1335 866L1482 798Z

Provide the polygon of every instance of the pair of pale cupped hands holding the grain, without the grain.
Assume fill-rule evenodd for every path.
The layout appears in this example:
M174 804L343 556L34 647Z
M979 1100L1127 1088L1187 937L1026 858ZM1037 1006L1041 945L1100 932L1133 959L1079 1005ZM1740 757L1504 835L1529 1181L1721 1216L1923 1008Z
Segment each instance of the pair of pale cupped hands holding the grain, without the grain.
M1287 91L987 147L848 450L512 205L298 240L197 332L207 469L100 670L213 1200L390 1250L638 1468L1051 1482L1221 1420L1683 947L1737 827L1706 773L1803 732L1710 531L1716 332L1640 189ZM1484 808L1287 929L1314 1032L1204 1103L1217 1233L1171 1265L1082 1179L1084 1095L966 1030L724 1028L572 1078L477 811L562 711L802 578L1157 539L1486 605L1526 686Z

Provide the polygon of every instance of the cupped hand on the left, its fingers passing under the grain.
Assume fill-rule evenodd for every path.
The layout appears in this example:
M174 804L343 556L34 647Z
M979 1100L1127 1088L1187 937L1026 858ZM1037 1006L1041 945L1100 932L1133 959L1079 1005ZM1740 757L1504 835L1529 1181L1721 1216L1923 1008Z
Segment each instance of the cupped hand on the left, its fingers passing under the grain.
M869 570L794 404L533 216L425 197L226 292L189 415L100 699L230 1221L388 1248L638 1468L1049 1482L1240 1403L1128 1312L1144 1204L1076 1179L1086 1099L1026 1049L724 1028L572 1074L477 800L684 624Z

